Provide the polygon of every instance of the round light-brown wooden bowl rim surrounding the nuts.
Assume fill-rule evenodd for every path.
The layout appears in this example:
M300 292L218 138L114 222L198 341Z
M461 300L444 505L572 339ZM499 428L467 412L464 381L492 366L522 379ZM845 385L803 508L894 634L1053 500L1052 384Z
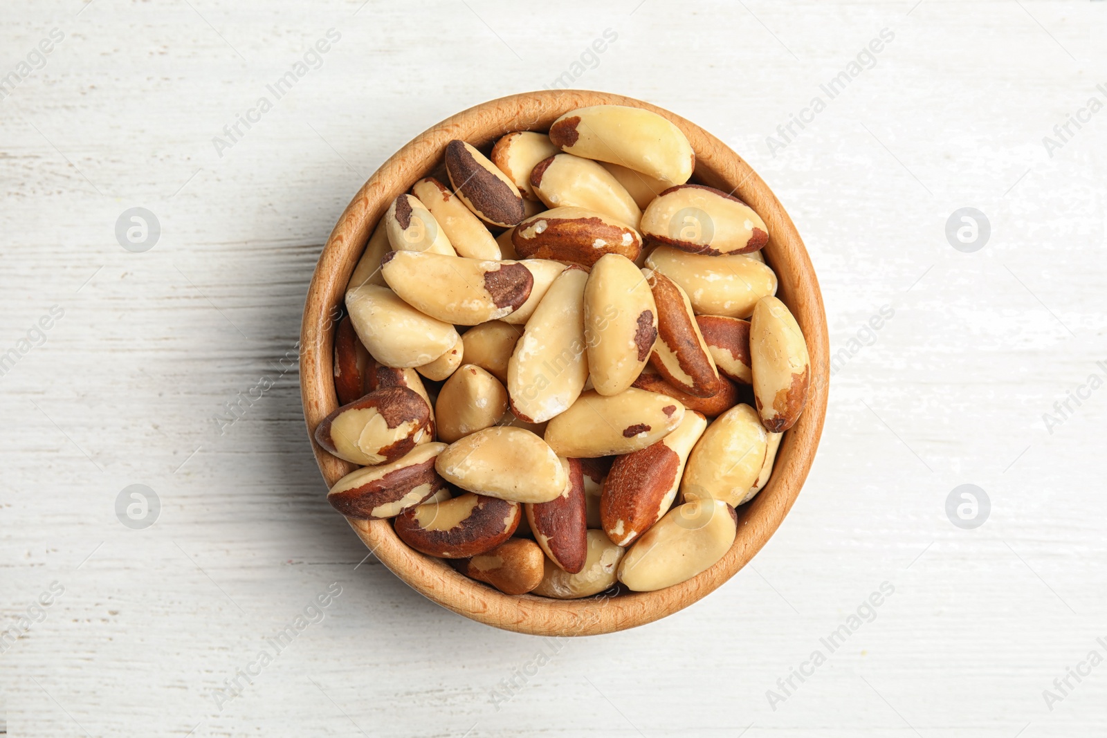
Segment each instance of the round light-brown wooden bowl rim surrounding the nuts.
M764 249L779 280L777 295L792 309L807 339L813 381L807 407L785 434L769 484L738 508L734 545L697 576L656 592L629 592L583 600L511 596L468 579L448 563L401 541L387 520L348 519L377 559L418 592L456 613L488 625L535 635L596 635L650 623L689 606L734 575L765 544L788 513L823 432L829 378L829 341L823 295L799 233L762 178L723 142L684 118L622 95L581 90L531 92L483 103L446 118L396 152L354 195L327 240L311 278L300 333L300 387L319 469L328 487L355 467L320 448L313 432L338 407L332 376L334 319L346 282L379 218L391 201L442 162L446 143L461 138L478 148L511 131L547 131L561 114L587 105L632 105L676 124L695 150L694 178L734 191L768 225Z

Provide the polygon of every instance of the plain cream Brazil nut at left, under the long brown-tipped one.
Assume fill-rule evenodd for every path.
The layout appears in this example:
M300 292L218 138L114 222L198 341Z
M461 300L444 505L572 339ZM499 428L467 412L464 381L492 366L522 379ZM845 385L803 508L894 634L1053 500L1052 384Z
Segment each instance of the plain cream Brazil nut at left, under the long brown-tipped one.
M428 364L457 343L452 324L421 313L386 287L354 288L346 292L345 304L358 337L386 366Z

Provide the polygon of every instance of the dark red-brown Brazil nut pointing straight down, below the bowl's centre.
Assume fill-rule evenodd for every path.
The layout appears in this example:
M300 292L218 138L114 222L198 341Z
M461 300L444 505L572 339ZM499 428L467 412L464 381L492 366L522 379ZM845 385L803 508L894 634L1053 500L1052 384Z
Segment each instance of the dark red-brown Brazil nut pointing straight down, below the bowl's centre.
M530 530L555 564L576 574L588 557L588 514L584 474L580 459L561 459L569 484L560 497L549 502L524 505Z

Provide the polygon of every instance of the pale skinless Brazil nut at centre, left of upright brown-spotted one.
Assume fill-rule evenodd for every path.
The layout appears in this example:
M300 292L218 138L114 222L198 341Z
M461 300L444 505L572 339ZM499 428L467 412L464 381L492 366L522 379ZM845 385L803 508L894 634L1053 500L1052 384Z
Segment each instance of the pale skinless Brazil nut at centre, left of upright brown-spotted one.
M583 294L588 273L561 272L527 321L507 365L511 412L544 423L580 396L588 380ZM560 490L558 490L560 491Z

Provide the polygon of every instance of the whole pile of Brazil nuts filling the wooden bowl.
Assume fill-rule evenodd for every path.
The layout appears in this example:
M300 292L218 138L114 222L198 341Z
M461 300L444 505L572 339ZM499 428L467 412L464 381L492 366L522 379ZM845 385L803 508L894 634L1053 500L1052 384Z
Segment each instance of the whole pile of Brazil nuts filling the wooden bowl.
M507 594L715 564L810 372L765 222L694 165L675 125L617 105L489 156L452 141L346 288L315 439L361 468L331 505Z

